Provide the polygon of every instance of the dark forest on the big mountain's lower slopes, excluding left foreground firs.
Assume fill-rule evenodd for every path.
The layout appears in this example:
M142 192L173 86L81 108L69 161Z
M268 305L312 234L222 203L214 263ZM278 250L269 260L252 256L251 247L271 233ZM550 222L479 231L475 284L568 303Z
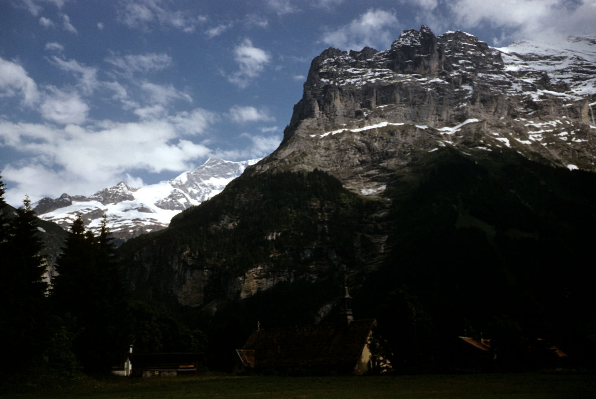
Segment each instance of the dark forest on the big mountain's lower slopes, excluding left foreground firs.
M123 265L139 267L131 258L139 248L159 248L155 256L166 258L172 252L163 248L184 248L189 267L215 265L222 284L260 262L295 271L292 283L219 303L215 315L178 307L150 280L150 301L169 304L190 329L203 331L218 367L234 361L233 349L257 320L262 326L315 321L319 308L342 292L344 271L356 317L377 318L398 370L448 370L461 335L491 338L502 370L537 367L538 339L554 342L575 364L591 363L594 174L514 151L471 159L443 149L396 172L386 199L350 193L321 171L243 176L176 216L167 230L127 242ZM387 203L389 216L374 219ZM218 228L222 221L234 228ZM389 231L390 250L380 268L367 271L361 259L375 255L367 234L375 228ZM266 240L270 231L286 234ZM314 248L312 255L305 258L303 248ZM328 258L329 249L337 260ZM314 283L306 278L313 265ZM223 292L212 286L205 302ZM146 287L133 295L149 300ZM327 320L335 316L333 310Z

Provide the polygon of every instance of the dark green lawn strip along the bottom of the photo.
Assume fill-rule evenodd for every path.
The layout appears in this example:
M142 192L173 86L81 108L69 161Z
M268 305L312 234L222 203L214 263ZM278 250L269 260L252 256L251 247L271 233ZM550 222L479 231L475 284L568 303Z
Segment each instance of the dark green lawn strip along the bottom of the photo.
M82 378L60 387L21 386L10 398L594 398L594 373L362 377L204 375Z

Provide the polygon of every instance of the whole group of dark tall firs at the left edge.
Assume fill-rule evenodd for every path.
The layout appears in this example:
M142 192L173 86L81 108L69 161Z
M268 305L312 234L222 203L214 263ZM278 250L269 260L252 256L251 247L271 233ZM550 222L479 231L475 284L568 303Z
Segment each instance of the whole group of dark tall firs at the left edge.
M5 373L48 366L61 373L107 372L123 361L131 340L126 290L104 221L99 234L79 217L52 284L29 198L16 209L0 180L0 342Z

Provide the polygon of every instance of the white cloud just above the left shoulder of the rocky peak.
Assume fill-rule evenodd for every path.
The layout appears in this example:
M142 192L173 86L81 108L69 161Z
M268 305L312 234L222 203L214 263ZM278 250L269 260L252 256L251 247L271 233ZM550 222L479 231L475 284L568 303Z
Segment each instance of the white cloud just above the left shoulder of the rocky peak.
M386 47L395 39L392 32L397 24L395 14L371 9L349 24L325 32L321 41L346 50L362 50L366 46Z

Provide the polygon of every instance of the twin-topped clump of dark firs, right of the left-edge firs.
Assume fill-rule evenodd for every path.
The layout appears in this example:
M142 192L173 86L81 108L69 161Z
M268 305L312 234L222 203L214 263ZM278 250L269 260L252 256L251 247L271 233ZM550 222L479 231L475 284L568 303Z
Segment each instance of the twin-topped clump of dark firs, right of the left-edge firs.
M75 320L72 350L92 373L108 372L129 345L126 295L112 240L105 218L95 237L79 216L58 259L52 289L57 314Z

